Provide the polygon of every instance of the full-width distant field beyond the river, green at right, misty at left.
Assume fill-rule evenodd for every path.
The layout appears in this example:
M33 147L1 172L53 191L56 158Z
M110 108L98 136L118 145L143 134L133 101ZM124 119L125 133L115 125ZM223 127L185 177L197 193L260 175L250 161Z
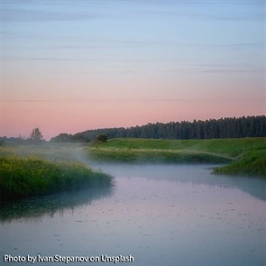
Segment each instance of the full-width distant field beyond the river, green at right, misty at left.
M52 162L223 163L216 173L266 177L266 138L211 140L109 139L107 142L0 146L0 158Z

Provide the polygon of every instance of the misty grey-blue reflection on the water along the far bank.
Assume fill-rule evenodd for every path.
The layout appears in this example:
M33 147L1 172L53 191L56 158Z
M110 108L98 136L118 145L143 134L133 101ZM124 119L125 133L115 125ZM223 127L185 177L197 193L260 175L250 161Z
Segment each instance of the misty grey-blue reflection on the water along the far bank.
M205 164L98 164L101 169L115 177L142 177L170 182L193 183L220 188L238 188L243 192L266 201L266 180L254 177L238 177L210 174L217 165Z

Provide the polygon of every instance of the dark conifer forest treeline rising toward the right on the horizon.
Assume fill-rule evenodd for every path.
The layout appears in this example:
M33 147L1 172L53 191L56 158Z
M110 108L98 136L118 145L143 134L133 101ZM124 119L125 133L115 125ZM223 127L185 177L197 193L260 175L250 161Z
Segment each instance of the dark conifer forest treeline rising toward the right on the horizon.
M193 122L170 122L145 124L128 128L104 128L87 130L83 133L60 135L52 138L50 142L89 142L96 140L97 136L105 134L108 138L146 138L146 139L220 139L265 137L266 116L243 116L210 119Z

